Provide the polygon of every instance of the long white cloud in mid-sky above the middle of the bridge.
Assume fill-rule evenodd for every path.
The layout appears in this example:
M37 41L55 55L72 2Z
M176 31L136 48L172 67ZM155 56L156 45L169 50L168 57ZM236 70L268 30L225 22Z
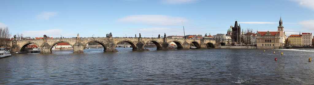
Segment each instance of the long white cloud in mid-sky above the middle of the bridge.
M148 25L180 25L181 21L187 22L186 18L172 17L167 15L131 15L117 21L128 23L143 23Z

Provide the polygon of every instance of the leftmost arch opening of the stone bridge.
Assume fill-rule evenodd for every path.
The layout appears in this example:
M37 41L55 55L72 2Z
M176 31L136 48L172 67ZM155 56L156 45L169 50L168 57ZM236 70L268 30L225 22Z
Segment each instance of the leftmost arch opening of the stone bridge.
M20 49L21 53L29 53L29 52L40 53L40 51L41 49L39 45L35 43L27 43L23 45L22 48Z

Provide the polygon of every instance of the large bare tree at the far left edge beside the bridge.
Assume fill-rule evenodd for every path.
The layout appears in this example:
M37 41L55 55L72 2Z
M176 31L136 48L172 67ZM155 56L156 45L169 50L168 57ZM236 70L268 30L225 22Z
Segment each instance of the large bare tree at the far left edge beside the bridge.
M11 33L9 32L8 27L0 27L0 47L8 47L10 42Z

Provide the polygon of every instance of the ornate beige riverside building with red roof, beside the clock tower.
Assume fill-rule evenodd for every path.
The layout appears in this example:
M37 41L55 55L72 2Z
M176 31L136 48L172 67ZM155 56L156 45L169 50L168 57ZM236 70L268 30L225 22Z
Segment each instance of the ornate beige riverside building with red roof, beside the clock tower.
M257 49L279 49L280 46L279 32L257 32L256 40Z

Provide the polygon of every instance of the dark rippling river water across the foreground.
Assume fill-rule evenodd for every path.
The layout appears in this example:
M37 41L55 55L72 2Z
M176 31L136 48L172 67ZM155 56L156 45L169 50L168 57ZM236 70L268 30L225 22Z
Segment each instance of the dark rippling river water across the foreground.
M117 49L12 54L0 84L314 84L313 49Z

